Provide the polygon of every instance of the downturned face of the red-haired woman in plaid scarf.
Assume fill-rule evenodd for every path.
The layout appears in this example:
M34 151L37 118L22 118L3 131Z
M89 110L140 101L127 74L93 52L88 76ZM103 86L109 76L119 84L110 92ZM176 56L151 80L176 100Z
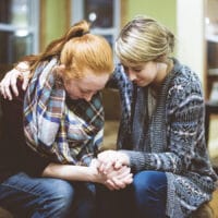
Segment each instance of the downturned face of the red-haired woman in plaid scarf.
M84 77L63 80L64 88L71 99L90 101L92 97L102 89L109 80L108 73L94 74L92 70L84 69Z

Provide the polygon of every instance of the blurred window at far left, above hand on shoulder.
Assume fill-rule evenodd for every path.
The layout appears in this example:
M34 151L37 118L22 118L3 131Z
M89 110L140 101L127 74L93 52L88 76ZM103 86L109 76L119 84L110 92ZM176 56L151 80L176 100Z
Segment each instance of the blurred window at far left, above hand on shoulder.
M0 1L0 66L38 52L39 0Z

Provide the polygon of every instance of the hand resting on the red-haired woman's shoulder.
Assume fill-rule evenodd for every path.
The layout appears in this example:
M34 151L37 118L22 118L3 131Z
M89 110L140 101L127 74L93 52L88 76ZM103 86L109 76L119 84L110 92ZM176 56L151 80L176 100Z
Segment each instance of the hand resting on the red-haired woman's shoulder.
M25 90L28 85L29 73L27 62L21 62L16 68L9 71L0 82L0 92L3 98L12 100L12 93L15 96L19 95L16 87L19 78L23 80L22 88Z

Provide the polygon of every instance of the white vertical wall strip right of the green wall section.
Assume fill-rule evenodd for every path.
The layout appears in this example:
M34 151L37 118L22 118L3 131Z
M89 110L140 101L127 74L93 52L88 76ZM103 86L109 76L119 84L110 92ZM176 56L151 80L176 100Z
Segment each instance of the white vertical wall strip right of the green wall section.
M205 86L205 0L178 0L178 58L190 65Z

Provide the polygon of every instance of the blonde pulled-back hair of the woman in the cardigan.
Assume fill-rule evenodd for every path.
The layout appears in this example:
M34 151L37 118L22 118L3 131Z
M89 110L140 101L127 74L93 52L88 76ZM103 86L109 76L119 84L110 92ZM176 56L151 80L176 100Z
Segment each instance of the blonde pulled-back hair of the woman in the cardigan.
M167 27L141 15L121 31L116 41L116 53L126 65L147 61L166 62L173 47L174 35Z

